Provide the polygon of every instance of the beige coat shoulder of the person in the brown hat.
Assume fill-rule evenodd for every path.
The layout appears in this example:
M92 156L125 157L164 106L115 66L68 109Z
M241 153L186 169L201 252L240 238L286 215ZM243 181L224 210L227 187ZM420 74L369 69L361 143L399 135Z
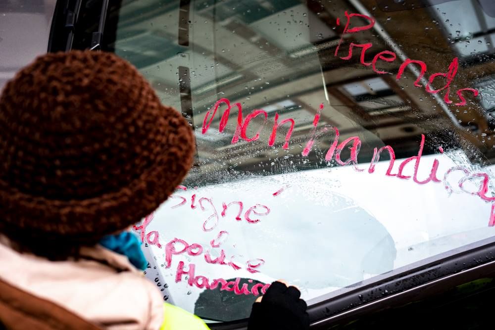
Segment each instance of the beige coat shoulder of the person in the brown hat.
M18 253L5 239L0 241L0 278L4 281L104 329L160 328L161 295L125 256L95 246L82 249L77 261L49 261Z

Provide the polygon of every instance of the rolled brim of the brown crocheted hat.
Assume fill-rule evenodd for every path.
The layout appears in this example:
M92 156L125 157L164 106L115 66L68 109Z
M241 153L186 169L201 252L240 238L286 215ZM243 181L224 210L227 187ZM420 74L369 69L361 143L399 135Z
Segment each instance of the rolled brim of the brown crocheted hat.
M173 108L163 106L163 109L183 125L176 136L177 142L190 145L194 137L187 122ZM14 237L60 239L63 236L64 240L97 242L104 235L137 223L172 194L193 162L194 149L182 151L174 148L174 144L166 145L154 166L128 186L84 200L33 196L0 180L1 231Z

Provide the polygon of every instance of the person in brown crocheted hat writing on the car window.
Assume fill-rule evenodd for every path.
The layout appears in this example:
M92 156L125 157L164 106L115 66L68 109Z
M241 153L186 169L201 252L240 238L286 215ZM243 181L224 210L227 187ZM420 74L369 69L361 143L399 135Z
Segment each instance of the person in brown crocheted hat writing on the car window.
M5 86L0 126L0 328L208 329L163 303L128 232L182 182L195 149L131 64L41 56ZM298 290L278 284L250 330L309 327Z

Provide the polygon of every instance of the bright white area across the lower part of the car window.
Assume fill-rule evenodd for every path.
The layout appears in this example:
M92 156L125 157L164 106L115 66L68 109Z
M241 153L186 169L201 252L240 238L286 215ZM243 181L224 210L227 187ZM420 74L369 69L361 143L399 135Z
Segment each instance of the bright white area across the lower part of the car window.
M418 175L421 180L428 177L434 158L440 160L439 179L453 166L472 168L459 152L423 156ZM401 161L396 160L393 173ZM491 204L479 196L449 194L444 183L418 185L412 179L387 177L388 161L379 162L372 174L367 172L368 165L358 165L365 169L363 172L351 166L328 167L177 190L174 196L185 197L186 203L172 208L182 200L167 200L154 213L146 230L157 231L161 244L151 245L147 251L151 266L156 267L148 271L168 283L167 290L175 304L194 312L204 288L188 285L185 277L175 283L179 261L184 261L186 270L195 264L195 275L210 281L241 277L269 283L285 279L296 284L302 298L309 300L495 235L495 228L488 226ZM493 178L491 168L482 170ZM405 167L404 174L413 174L412 163ZM454 190L460 178L460 173L452 174L449 182ZM273 195L282 188L280 194ZM466 184L466 188L470 187ZM208 232L203 231L202 225L213 209L203 200L201 210L201 197L210 198L218 213L218 224ZM244 204L241 221L235 219L237 205L221 216L222 203L232 201ZM244 213L256 204L267 206L270 213L251 213L251 219L259 222L248 223ZM210 220L207 225L212 223ZM222 236L222 244L212 248L210 241L221 231L228 232L228 236ZM165 246L176 237L200 244L213 257L224 249L226 261L235 255L235 263L241 269L206 263L204 252L197 256L173 255L171 267L166 268ZM178 244L177 249L181 248ZM246 270L246 262L252 259L264 260L257 268L259 273Z

